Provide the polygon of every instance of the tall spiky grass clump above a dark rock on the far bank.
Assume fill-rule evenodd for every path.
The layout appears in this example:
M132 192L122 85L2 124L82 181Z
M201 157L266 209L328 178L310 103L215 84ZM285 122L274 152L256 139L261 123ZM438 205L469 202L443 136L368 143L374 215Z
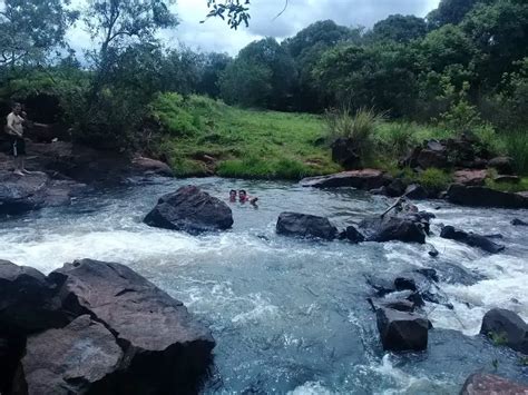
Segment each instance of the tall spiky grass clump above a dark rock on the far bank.
M361 108L352 112L349 108L327 110L324 120L331 141L338 138L348 138L360 158L372 157L375 148L375 132L383 122L383 115L373 108Z

